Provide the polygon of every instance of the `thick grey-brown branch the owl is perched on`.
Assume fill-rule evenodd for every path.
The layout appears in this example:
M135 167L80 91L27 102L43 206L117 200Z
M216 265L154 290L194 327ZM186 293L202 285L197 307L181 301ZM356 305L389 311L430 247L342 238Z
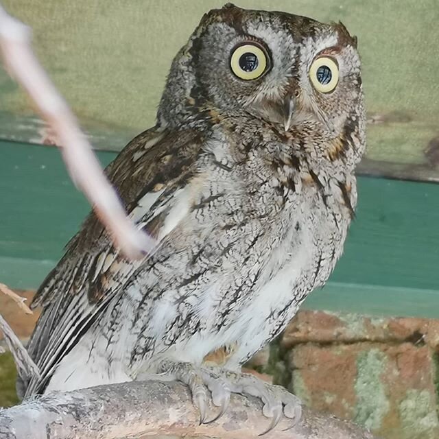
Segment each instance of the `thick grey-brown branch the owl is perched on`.
M216 414L218 408L210 407ZM226 414L198 426L189 391L180 383L133 381L52 393L0 411L1 439L122 439L157 434L256 438L268 423L261 401L233 395ZM373 439L372 434L330 415L304 410L287 431L282 420L266 439Z

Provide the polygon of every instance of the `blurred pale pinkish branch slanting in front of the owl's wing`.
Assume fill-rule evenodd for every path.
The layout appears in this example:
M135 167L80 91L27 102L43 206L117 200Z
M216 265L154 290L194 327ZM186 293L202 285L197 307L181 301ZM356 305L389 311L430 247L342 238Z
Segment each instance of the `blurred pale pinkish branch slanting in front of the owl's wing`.
M9 16L0 5L0 52L5 66L31 97L56 132L69 174L80 188L112 239L129 258L143 257L152 252L155 240L138 230L121 206L114 189L106 180L81 132L69 106L56 91L29 45L29 28Z

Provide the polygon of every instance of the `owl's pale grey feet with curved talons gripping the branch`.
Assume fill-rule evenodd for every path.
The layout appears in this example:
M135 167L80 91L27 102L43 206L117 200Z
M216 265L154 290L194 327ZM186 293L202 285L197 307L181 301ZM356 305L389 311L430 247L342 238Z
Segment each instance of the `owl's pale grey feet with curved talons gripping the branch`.
M298 423L302 414L302 407L297 396L281 385L265 383L254 375L172 361L163 361L159 372L165 372L167 379L174 377L189 386L192 401L200 411L200 424L212 423L220 418L226 412L231 393L256 396L262 400L264 416L272 418L270 426L262 434L276 427L282 414L293 420L292 427ZM206 420L209 390L213 404L220 407L220 410L215 418Z

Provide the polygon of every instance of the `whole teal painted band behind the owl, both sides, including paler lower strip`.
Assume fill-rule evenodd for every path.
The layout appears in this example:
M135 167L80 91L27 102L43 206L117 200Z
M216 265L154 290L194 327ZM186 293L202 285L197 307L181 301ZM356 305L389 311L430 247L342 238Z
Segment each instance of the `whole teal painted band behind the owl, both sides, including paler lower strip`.
M0 142L0 158L0 282L34 288L90 208L55 147ZM344 256L306 305L439 317L439 185L360 177L358 191Z

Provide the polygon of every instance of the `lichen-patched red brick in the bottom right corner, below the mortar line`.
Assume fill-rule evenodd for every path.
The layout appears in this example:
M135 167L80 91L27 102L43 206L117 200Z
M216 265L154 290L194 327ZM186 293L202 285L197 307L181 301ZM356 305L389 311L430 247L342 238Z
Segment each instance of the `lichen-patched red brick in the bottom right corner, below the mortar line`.
M315 410L363 423L386 439L439 437L429 346L299 344L289 368L292 390Z

